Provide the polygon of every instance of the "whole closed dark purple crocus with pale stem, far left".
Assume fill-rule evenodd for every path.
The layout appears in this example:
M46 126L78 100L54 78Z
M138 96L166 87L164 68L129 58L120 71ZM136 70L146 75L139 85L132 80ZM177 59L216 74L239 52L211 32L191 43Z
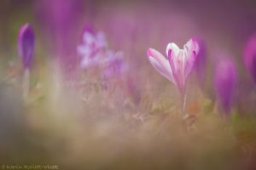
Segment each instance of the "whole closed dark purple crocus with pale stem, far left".
M23 96L26 97L29 90L29 75L32 58L34 55L34 32L29 24L20 27L18 36L18 51L22 61L24 71Z

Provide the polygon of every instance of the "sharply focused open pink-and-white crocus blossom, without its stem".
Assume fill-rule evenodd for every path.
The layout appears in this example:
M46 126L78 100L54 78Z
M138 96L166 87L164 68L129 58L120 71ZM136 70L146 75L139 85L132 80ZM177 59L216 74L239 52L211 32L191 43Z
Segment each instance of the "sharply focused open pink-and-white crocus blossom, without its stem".
M178 48L173 42L168 43L166 47L167 58L154 48L148 48L147 55L154 68L162 76L173 82L181 94L184 94L198 52L198 43L190 39L183 46L183 49Z

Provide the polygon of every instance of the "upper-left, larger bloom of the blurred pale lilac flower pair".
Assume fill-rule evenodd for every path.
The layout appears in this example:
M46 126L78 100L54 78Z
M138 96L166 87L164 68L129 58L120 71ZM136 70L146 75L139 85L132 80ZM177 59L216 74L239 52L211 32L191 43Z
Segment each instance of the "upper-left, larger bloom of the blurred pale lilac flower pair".
M79 56L81 56L81 67L86 69L95 66L100 62L101 54L105 52L107 42L102 32L95 33L85 29L82 44L77 47Z

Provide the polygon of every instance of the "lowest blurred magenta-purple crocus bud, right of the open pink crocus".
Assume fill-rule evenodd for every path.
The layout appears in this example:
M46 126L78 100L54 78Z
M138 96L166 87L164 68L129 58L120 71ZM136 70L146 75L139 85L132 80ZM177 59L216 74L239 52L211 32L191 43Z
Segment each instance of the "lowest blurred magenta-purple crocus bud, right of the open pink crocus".
M236 92L237 73L236 65L232 60L221 60L216 66L214 86L218 102L224 113L231 110L232 101Z

